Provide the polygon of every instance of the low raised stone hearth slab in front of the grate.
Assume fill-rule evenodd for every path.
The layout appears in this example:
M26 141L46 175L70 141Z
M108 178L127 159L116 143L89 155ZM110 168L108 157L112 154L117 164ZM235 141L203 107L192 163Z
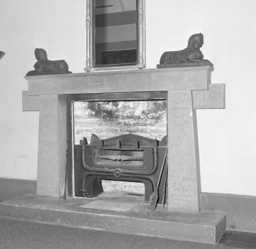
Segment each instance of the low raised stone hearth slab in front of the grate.
M99 206L97 209L96 200L100 205L105 205L104 202L109 205L113 201L126 208L105 210ZM171 212L161 206L152 211L144 203L144 196L119 193L103 194L95 199L67 200L25 195L0 203L0 215L29 222L206 244L217 244L226 225L223 212Z

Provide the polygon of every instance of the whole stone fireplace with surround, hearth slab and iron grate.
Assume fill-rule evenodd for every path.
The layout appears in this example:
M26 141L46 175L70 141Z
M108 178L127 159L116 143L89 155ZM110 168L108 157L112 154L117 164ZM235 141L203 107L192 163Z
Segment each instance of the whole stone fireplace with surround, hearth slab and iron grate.
M225 108L225 85L211 84L212 70L203 63L26 77L23 110L40 112L37 195L2 203L1 214L216 244L225 232L225 213L201 210L196 126L197 109ZM166 101L167 130L159 137L134 129L105 136L92 128L74 142L73 107L79 101ZM74 174L76 168L81 174ZM142 182L144 198L100 194L100 181L109 179Z

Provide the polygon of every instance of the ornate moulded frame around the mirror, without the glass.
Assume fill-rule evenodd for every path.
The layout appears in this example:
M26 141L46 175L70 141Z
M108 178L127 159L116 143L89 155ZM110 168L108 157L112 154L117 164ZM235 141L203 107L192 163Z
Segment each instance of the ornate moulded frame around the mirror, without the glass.
M86 0L86 72L102 71L102 70L122 70L122 69L144 69L146 67L146 25L145 25L145 0L137 0L138 5L138 46L137 46L137 65L117 65L96 67L94 49L93 32L93 2L94 0Z

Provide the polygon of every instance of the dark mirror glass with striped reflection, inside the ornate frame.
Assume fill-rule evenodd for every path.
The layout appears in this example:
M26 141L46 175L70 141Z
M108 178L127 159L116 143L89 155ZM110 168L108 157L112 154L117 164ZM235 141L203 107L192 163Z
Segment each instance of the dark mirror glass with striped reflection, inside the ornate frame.
M94 0L95 66L137 64L136 0Z

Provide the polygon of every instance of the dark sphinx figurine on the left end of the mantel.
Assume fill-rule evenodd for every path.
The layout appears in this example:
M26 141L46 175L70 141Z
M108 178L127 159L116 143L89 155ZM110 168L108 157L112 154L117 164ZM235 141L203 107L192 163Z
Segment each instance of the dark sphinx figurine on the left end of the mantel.
M47 53L44 49L34 49L34 56L36 57L37 62L34 64L34 70L29 71L27 76L70 73L69 66L65 60L47 59Z

